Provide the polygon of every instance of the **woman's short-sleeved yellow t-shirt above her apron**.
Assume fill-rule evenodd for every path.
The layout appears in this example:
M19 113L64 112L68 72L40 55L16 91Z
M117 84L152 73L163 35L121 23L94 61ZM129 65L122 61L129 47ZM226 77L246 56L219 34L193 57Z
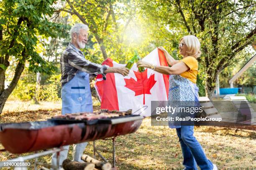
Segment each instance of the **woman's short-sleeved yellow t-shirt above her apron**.
M193 83L197 82L197 72L198 72L198 62L195 57L187 56L180 60L180 62L184 62L188 67L189 70L182 72L180 76L189 79Z

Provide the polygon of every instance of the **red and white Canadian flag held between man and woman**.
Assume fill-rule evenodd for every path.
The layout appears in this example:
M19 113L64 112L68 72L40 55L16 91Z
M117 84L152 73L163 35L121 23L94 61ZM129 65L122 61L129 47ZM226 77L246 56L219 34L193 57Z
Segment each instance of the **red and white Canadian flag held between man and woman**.
M154 65L168 66L164 53L157 48L142 60ZM125 66L110 58L106 59L102 65ZM118 73L108 73L106 80L103 80L102 75L97 75L95 89L101 101L101 109L119 111L132 109L134 114L140 110L140 115L151 116L151 101L168 100L169 75L149 68L145 68L144 72L139 72L134 63L125 77Z

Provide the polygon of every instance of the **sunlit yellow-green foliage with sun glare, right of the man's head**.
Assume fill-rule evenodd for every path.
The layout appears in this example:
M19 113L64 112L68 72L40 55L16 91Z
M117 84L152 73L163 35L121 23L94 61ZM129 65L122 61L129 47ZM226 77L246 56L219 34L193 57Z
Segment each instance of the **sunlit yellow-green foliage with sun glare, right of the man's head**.
M134 50L143 57L156 47L154 40L148 39L148 32L145 32L148 23L139 15L136 1L67 0L66 8L61 10L72 15L74 23L89 25L90 37L84 52L93 62L100 63L110 57L125 64Z

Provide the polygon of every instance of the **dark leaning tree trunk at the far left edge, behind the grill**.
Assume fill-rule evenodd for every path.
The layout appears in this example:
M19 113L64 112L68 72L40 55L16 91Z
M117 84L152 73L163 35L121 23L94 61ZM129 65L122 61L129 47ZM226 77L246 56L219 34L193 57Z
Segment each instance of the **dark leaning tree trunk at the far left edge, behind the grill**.
M4 89L3 92L0 93L0 114L3 111L3 107L5 106L5 102L8 99L8 97L10 96L10 94L13 92L15 86L18 83L18 80L20 79L20 75L24 70L25 67L25 60L23 63L19 62L16 69L15 69L15 74L13 77L12 82L10 83L10 85L8 86L8 88ZM3 80L3 77L1 77L3 75L0 75L0 79Z

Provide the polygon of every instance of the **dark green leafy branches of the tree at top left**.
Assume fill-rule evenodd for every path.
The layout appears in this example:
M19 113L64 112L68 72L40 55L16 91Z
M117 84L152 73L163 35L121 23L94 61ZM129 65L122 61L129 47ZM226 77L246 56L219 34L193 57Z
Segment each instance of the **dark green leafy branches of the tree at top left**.
M36 51L38 35L67 37L69 25L48 20L54 13L53 0L3 0L0 7L0 55L15 56L16 60L29 62L29 70L51 73L56 67L46 62ZM8 60L8 58L7 58ZM1 68L8 67L0 63ZM5 67L3 67L5 65ZM5 68L6 70L6 68Z

